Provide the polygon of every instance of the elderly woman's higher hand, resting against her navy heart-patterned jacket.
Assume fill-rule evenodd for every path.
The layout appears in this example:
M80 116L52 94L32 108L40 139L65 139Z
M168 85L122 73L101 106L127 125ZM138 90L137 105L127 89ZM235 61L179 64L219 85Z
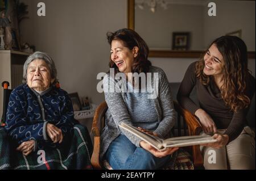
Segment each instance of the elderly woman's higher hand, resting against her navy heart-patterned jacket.
M59 144L63 141L63 133L61 129L55 127L55 125L51 123L47 123L46 125L47 135L51 138L53 143L59 142Z

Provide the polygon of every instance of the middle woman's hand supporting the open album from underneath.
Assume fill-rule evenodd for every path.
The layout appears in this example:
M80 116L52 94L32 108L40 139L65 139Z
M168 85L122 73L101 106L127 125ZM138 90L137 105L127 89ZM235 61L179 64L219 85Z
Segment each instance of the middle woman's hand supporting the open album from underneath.
M163 151L159 151L155 149L153 146L151 146L150 144L148 144L146 141L141 141L139 145L141 145L143 149L149 151L152 155L158 158L162 158L162 157L165 157L166 155L173 154L174 151L179 149L179 148L167 148Z

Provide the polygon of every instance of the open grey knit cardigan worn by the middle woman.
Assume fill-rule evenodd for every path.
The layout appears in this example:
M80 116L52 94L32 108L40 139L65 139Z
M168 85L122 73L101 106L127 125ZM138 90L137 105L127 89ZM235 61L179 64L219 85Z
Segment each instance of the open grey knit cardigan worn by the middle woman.
M154 104L156 113L158 114L158 127L155 129L160 137L166 138L170 136L170 131L175 124L175 110L171 94L171 89L168 83L168 79L164 71L155 66L150 66L148 73L158 73L158 96L152 99L151 102ZM133 125L133 121L130 119L129 110L127 110L127 102L125 99L126 94L133 94L129 92L117 92L105 90L105 87L110 87L112 83L118 83L119 80L110 77L110 74L105 75L103 85L105 92L105 100L108 104L108 111L106 112L105 127L101 134L101 154L100 157L104 156L106 150L108 150L111 142L119 136L119 134L125 134L127 138L136 146L139 147L141 139L134 136L133 134L119 129L118 125L121 123L127 123ZM155 82L156 83L156 82ZM155 85L154 78L151 78L151 85ZM115 89L117 90L117 89ZM151 94L147 92L147 94ZM152 95L152 94L151 94ZM142 109L147 109L143 107Z

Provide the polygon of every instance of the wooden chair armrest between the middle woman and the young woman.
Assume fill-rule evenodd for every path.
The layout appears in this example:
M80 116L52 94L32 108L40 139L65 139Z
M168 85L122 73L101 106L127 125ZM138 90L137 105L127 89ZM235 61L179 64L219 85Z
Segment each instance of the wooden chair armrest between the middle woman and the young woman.
M190 136L199 135L203 128L201 124L197 120L197 118L188 110L185 110L183 107L179 105L179 103L174 101L175 110L180 113L183 119L186 121L188 125L188 133ZM201 155L201 150L199 145L192 146L192 156L193 156L193 164L195 167L202 167L204 164L203 157Z

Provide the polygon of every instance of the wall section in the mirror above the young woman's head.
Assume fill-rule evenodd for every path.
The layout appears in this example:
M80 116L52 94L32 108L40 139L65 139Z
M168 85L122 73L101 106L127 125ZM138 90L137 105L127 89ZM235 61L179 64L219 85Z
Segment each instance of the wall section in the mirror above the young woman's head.
M242 40L248 50L255 51L255 1L216 1L216 16L204 10L204 44L208 47L217 37L242 30Z

